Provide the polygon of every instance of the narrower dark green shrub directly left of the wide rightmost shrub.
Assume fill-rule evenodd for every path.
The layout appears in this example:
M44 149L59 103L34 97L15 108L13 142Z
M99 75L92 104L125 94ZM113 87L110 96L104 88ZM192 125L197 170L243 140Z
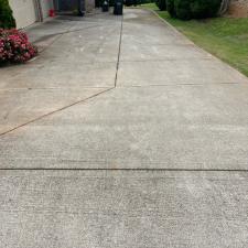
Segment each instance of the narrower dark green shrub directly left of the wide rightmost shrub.
M191 12L192 0L174 0L175 15L182 20L190 20L192 18Z

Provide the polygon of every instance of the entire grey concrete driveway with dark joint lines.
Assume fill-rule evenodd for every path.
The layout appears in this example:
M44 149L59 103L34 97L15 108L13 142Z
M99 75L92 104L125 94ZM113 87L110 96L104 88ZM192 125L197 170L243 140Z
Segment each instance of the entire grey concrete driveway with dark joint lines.
M57 18L1 68L4 248L244 248L248 80L144 10Z

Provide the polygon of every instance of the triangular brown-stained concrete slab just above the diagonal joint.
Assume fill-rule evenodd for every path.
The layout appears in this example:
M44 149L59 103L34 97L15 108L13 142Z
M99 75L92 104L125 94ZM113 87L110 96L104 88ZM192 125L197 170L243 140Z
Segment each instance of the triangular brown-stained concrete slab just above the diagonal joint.
M51 88L0 90L0 132L7 132L65 106L84 101L105 88Z

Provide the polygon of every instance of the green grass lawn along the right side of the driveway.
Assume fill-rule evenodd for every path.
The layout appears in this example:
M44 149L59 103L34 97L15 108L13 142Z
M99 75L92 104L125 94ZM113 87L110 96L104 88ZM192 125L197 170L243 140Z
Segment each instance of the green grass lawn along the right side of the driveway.
M181 21L159 11L154 3L142 8L154 10L195 44L248 76L248 18Z

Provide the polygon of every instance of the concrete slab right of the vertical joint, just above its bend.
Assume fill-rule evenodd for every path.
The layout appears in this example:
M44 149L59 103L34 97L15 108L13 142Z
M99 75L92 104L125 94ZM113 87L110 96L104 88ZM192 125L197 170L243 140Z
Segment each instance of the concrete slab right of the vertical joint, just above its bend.
M212 58L121 62L118 86L247 83L247 78Z

